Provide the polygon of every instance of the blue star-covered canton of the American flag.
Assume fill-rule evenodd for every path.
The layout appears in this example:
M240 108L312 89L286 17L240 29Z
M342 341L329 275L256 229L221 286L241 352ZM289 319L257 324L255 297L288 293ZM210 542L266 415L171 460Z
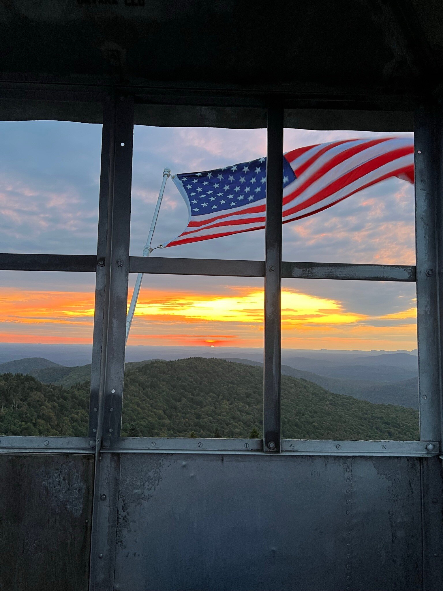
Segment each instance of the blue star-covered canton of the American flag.
M177 174L177 177L183 184L193 216L236 209L266 196L266 158L204 173ZM283 186L293 180L294 171L283 158Z

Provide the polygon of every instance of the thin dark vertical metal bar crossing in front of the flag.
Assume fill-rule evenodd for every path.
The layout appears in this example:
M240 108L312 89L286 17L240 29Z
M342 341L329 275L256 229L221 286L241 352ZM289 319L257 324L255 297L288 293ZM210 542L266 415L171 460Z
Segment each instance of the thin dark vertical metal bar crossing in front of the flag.
M270 106L268 109L263 362L263 449L265 452L279 452L281 441L283 114L284 109L280 106Z

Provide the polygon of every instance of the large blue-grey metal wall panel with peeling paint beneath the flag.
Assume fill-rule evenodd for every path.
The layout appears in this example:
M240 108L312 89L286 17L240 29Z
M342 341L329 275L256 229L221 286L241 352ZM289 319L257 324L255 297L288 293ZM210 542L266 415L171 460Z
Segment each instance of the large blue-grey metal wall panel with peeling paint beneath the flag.
M115 589L420 589L419 462L122 454Z

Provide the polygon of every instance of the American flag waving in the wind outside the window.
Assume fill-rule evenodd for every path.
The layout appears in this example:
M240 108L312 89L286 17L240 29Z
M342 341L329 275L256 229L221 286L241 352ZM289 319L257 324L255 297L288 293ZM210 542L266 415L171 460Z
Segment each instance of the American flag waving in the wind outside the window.
M413 138L345 139L283 157L283 223L320 212L389 177L413 183ZM177 174L188 225L176 246L265 228L266 158Z

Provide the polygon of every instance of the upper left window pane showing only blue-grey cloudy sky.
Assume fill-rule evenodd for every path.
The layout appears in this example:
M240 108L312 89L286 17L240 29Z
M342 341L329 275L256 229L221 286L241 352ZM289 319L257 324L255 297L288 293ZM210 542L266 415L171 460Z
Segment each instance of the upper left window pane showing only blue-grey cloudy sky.
M102 125L0 122L0 252L97 250Z

